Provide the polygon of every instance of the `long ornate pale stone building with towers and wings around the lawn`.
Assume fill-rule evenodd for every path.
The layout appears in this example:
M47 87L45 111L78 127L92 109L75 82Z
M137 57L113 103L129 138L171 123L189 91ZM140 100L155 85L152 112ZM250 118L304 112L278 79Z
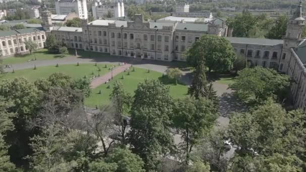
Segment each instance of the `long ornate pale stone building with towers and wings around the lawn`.
M53 26L51 13L45 9L42 19L43 30L38 27L0 32L2 55L27 51L22 41L34 40L34 37L42 48L45 34L54 34L69 48L127 58L184 61L184 51L202 35L218 35L230 41L236 53L245 56L250 64L273 67L290 75L294 80L291 87L294 104L306 109L306 41L301 38L305 19L301 3L287 24L283 40L230 37L232 30L219 18L200 23L186 18L146 22L142 15L136 15L133 22L96 20L88 23L83 19L81 28L73 28Z

